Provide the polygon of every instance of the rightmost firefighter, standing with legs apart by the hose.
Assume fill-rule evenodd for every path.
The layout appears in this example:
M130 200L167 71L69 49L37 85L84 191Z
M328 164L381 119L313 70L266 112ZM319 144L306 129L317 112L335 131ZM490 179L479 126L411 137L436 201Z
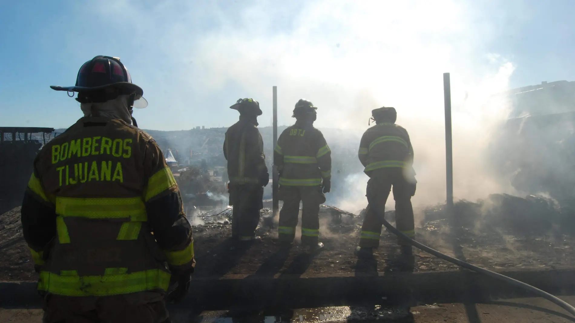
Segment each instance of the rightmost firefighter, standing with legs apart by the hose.
M396 125L397 112L393 107L380 107L371 111L375 125L363 133L359 144L359 160L369 176L367 197L369 203L357 248L358 256L373 255L379 247L385 203L393 187L396 203L397 229L406 236L415 237L411 197L415 195L416 180L413 171L413 147L407 130ZM378 212L376 213L375 210ZM402 255L411 257L412 247L398 239Z

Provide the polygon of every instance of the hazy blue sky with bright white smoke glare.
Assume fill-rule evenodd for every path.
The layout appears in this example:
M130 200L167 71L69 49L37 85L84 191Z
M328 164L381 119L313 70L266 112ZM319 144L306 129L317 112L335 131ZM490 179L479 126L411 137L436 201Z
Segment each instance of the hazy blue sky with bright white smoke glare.
M267 126L274 85L279 124L301 97L320 127L365 128L382 105L439 122L443 72L454 114L477 120L489 94L575 79L573 12L570 0L2 1L0 126L70 126L78 103L49 86L74 85L95 55L121 57L143 87L141 128L229 126L240 97L261 102Z

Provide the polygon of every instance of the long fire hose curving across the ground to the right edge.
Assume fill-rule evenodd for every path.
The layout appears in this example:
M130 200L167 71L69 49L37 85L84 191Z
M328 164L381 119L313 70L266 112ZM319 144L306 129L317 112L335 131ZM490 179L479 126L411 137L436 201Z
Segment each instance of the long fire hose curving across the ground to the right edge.
M369 197L367 197L367 202L370 203L371 205L376 205L375 203L370 202ZM400 237L401 239L405 239L406 241L408 241L409 244L413 245L413 247L419 248L419 249L421 249L427 253L430 253L431 255L434 255L440 259L446 260L450 263L456 264L456 265L461 266L463 268L467 268L469 270L490 276L490 277L495 278L495 279L503 280L504 282L507 282L507 283L512 284L514 286L521 287L523 289L531 291L532 293L537 294L540 297L543 297L543 298L555 303L556 305L563 307L563 309L565 309L567 312L569 312L570 314L575 316L575 307L569 305L569 303L563 301L562 299L555 297L555 296L547 293L546 291L543 291L543 290L540 290L534 286L531 286L530 284L526 284L524 282L520 282L517 279L513 279L513 278L505 276L505 275L497 274L497 272L486 270L485 268L477 267L477 266L472 265L470 263L463 262L462 260L448 256L444 253L436 251L435 249L427 247L427 245L421 244L421 243L411 239L410 237L406 236L405 234L401 233L400 230L397 230L393 225L391 225L388 221L385 220L384 214L381 214L381 212L379 210L376 210L375 207L373 209L374 209L375 213L377 214L377 216L382 220L385 228L387 228L390 232L392 232L396 236Z

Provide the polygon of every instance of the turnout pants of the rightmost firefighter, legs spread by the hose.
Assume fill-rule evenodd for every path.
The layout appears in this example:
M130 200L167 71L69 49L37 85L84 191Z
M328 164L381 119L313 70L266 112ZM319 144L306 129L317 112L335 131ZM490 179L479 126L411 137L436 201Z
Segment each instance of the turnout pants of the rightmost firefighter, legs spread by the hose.
M393 199L396 202L396 228L410 238L415 237L415 223L413 221L413 207L411 205L411 183L403 174L401 168L380 168L371 172L371 178L367 182L367 195L371 196L375 205L367 205L365 218L361 228L359 247L379 247L382 221L375 213L379 211L381 216L385 212L385 202L393 187ZM407 241L398 239L398 244L409 245Z

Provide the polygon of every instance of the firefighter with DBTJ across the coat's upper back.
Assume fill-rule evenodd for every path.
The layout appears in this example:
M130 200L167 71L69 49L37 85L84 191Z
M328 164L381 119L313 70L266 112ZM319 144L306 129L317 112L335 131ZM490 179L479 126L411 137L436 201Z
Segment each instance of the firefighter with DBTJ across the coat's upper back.
M274 149L278 198L283 201L279 240L284 247L293 242L301 201L301 243L311 251L323 247L319 243L319 209L331 187L331 151L323 134L313 127L316 110L312 102L298 101L292 116L296 124L283 130Z

